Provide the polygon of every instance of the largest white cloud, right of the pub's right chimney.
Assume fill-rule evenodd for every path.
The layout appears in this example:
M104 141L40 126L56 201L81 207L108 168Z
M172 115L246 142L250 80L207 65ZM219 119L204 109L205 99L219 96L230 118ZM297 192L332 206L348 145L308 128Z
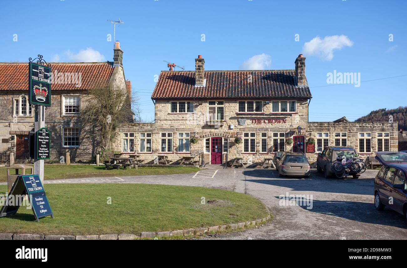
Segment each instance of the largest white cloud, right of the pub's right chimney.
M353 46L353 42L346 35L326 36L324 39L317 36L309 42L305 42L302 47L304 56L317 56L323 60L330 61L333 58L333 51L341 50L345 46Z

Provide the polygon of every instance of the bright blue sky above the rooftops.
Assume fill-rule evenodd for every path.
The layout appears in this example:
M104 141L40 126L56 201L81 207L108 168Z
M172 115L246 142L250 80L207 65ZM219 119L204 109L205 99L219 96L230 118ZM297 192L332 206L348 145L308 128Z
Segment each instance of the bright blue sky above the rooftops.
M206 70L274 70L293 69L303 53L313 94L310 121L354 120L406 105L407 76L368 81L407 75L404 0L44 0L1 6L0 62L27 62L38 53L47 61L112 61L107 35L113 36L113 24L107 20L120 17L125 23L116 27L116 40L145 120L154 118L150 95L155 75L168 69L163 60L194 70L197 55ZM334 70L360 73L360 86L331 86L327 74Z

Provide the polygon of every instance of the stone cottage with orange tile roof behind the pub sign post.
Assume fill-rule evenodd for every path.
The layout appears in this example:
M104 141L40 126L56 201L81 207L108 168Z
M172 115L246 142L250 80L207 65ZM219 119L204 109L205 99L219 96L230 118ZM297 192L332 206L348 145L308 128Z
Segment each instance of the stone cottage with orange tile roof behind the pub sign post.
M113 62L55 62L51 64L51 106L46 110L45 125L51 133L50 149L64 152L96 152L95 142L83 135L80 111L91 88L114 83L127 87L123 51L119 42ZM14 152L16 159L28 158L28 135L34 128L34 110L28 104L28 63L0 63L0 152Z

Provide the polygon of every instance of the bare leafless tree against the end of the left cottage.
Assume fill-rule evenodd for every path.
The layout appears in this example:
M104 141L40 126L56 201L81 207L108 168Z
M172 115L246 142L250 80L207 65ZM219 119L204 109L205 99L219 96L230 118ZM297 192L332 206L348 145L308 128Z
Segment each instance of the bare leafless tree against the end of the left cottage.
M81 110L83 132L98 141L102 150L116 136L121 123L132 122L131 99L125 87L109 85L88 90L85 105Z

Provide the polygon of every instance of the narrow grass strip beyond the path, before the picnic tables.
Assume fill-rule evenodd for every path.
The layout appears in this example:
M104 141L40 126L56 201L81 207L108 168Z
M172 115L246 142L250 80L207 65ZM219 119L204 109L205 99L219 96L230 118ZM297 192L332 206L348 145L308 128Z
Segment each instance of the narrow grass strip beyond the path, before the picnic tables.
M197 172L198 167L139 167L138 169L109 169L96 165L45 165L44 179L72 179L109 176L166 175ZM15 174L14 169L10 170ZM0 167L0 182L7 182L6 167Z

